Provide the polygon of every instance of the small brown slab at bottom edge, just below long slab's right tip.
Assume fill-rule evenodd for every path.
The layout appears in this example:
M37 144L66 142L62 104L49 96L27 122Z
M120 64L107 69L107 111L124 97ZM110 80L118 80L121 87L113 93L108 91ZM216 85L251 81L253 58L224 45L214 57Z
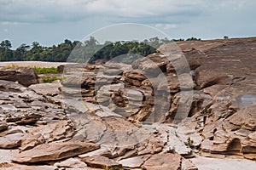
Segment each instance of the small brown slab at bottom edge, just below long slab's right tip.
M122 167L122 165L119 164L118 162L113 161L105 156L84 157L82 161L84 161L89 167L97 167L103 169L108 169L111 167Z

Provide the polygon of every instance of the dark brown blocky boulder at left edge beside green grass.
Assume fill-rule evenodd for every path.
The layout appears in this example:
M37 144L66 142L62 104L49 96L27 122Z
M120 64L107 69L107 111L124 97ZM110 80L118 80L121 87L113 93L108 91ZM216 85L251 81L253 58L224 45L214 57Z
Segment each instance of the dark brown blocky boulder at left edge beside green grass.
M19 82L24 86L38 83L37 73L33 68L9 68L0 70L0 79L11 82Z

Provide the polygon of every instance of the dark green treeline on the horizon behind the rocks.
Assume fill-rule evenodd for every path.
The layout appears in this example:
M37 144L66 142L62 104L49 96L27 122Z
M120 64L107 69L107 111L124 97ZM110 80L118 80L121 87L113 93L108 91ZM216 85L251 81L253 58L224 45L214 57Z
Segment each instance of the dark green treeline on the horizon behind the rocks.
M201 40L200 38L191 37L186 41ZM183 39L173 39L172 41L184 41ZM85 57L90 56L90 62L101 60L102 62L113 59L122 54L138 54L146 56L152 54L155 48L161 44L171 42L167 38L160 39L158 37L138 41L124 41L124 42L105 42L100 44L95 37L90 37L85 42L70 41L66 39L58 45L51 47L44 47L39 42L32 42L32 45L23 43L19 48L12 49L12 44L9 40L4 40L0 43L0 61L51 61L51 62L66 62L68 57L76 48L77 54L83 52ZM85 53L85 54L84 54ZM84 57L83 56L83 57ZM69 61L80 62L81 60L71 59Z

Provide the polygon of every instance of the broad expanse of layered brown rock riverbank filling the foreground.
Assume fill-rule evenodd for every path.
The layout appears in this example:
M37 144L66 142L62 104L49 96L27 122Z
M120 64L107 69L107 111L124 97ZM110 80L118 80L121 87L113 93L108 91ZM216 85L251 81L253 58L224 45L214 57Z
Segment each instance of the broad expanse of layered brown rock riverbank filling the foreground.
M56 86L1 80L0 167L254 169L256 38L177 45L189 70L166 44L132 65L66 65Z

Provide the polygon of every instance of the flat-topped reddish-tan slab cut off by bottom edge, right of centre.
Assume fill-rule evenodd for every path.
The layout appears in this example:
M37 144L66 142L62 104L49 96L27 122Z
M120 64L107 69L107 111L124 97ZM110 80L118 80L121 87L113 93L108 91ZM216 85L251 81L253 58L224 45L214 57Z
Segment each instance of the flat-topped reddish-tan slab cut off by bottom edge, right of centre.
M146 170L178 170L181 169L182 156L172 153L157 154L151 156L148 161L143 164Z

